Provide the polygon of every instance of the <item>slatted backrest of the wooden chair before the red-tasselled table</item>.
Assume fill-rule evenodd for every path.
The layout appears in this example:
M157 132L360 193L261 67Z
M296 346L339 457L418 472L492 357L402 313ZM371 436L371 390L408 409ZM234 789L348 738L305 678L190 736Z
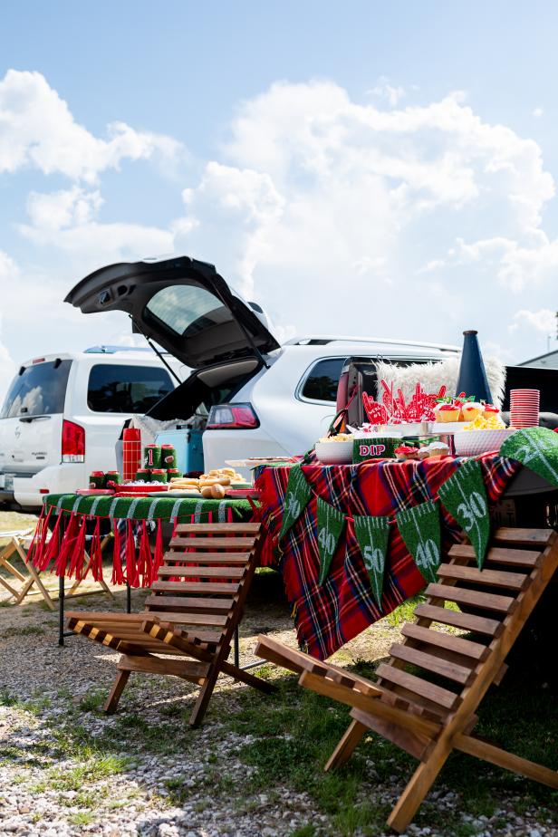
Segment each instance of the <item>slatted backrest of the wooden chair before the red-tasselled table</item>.
M182 524L170 541L146 611L216 647L230 642L255 572L261 524Z

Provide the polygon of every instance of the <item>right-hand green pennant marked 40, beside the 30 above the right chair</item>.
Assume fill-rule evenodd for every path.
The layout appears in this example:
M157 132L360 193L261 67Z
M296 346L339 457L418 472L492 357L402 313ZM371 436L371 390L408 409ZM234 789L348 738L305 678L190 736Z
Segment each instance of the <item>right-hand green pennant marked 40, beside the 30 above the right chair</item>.
M397 525L409 553L428 582L436 582L440 558L440 517L438 503L426 503L405 509L396 515Z

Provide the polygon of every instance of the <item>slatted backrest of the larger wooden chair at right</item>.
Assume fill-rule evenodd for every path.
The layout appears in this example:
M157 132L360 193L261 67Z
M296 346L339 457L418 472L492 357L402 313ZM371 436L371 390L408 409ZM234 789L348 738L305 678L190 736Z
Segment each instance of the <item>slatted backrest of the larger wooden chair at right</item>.
M438 569L438 582L428 584L427 601L415 611L418 621L403 626L403 642L377 671L380 687L393 698L442 723L460 707L476 707L503 677L505 655L558 564L558 537L549 529L502 528L493 535L482 570L472 546L453 546L448 559ZM471 634L456 636L447 628Z

